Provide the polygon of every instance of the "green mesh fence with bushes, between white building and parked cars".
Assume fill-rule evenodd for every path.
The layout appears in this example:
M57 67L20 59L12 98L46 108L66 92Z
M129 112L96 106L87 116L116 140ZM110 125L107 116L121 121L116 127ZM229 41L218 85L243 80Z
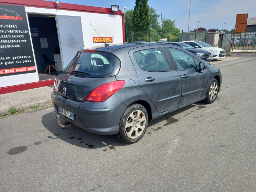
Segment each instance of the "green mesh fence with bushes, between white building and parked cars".
M169 42L179 42L179 36L175 36L172 32L159 31L157 33L156 30L148 30L148 31L128 31L125 29L125 42L126 43L142 43L142 42L160 42L161 38L166 38Z

